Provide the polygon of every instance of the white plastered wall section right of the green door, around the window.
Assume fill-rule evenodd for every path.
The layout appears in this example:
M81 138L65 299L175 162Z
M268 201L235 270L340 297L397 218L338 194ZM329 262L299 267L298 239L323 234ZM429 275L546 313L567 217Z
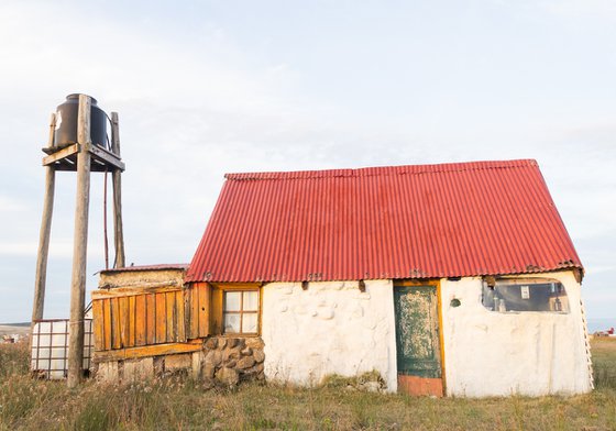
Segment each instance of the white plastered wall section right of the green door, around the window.
M481 302L482 279L441 280L447 393L455 396L579 394L591 390L580 309L571 272L558 279L569 313L494 312ZM451 307L453 298L460 307Z

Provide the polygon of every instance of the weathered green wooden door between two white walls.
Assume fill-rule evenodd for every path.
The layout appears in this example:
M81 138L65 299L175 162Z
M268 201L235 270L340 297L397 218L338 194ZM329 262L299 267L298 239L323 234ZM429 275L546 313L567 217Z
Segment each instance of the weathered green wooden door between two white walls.
M394 289L398 374L440 378L441 353L436 286Z

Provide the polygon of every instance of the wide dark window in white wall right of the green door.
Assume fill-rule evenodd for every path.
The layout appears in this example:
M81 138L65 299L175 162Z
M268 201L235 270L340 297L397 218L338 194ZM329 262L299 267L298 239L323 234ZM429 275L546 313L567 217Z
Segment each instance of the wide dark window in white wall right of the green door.
M501 279L494 287L484 283L482 302L492 311L569 312L564 286L550 279Z

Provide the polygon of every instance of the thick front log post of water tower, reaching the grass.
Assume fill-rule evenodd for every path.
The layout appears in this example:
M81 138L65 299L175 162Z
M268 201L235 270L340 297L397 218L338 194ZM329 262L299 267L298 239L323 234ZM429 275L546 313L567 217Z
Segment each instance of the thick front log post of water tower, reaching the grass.
M86 299L86 263L88 248L88 207L90 201L90 109L91 100L79 95L77 119L77 199L70 281L70 320L68 331L68 387L76 387L84 367L84 311Z

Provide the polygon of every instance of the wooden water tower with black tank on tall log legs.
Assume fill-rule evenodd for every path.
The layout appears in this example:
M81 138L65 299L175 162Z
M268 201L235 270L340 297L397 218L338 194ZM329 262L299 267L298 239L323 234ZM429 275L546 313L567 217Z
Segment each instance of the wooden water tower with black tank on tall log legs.
M107 123L111 123L110 140ZM73 246L73 275L70 281L70 319L68 330L68 386L75 387L82 376L84 311L86 299L86 261L88 244L88 210L90 200L90 173L111 173L113 188L114 267L124 266L122 232L121 178L124 164L120 158L118 113L111 118L98 107L96 99L86 95L69 95L57 107L50 123L50 140L43 152L45 167L45 197L43 221L36 259L36 279L32 321L43 319L47 255L54 207L56 172L77 173L75 203L75 236Z

